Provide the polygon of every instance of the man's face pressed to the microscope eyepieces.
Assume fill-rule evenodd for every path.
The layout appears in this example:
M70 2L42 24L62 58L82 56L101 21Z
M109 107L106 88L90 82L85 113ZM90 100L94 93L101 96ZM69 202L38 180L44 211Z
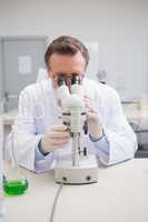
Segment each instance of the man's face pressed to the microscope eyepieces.
M79 75L82 79L85 71L86 61L80 52L75 56L53 53L50 57L50 70L48 72L55 89L58 88L57 80L59 77L69 79L72 75Z

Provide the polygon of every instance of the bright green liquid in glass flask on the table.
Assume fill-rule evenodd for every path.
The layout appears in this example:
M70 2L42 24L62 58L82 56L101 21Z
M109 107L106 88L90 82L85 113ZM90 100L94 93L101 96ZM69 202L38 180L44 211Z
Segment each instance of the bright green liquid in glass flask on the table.
M8 195L21 195L27 189L27 180L3 180L3 190Z

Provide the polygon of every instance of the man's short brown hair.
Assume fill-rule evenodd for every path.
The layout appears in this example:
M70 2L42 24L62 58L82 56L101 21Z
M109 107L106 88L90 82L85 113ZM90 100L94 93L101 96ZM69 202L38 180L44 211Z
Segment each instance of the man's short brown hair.
M69 37L69 36L59 37L55 39L47 48L47 51L45 54L46 65L48 69L50 69L49 61L50 61L50 57L53 53L75 56L77 52L80 52L82 54L86 61L86 68L87 68L88 62L89 62L89 53L85 44L73 37Z

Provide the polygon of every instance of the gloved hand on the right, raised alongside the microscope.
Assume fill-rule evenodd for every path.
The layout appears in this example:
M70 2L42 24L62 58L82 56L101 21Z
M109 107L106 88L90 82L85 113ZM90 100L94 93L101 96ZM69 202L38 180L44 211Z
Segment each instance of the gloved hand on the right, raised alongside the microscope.
M95 139L99 139L103 134L99 114L97 113L97 111L95 111L95 109L91 105L90 99L87 97L85 97L85 105L87 112L89 134Z

